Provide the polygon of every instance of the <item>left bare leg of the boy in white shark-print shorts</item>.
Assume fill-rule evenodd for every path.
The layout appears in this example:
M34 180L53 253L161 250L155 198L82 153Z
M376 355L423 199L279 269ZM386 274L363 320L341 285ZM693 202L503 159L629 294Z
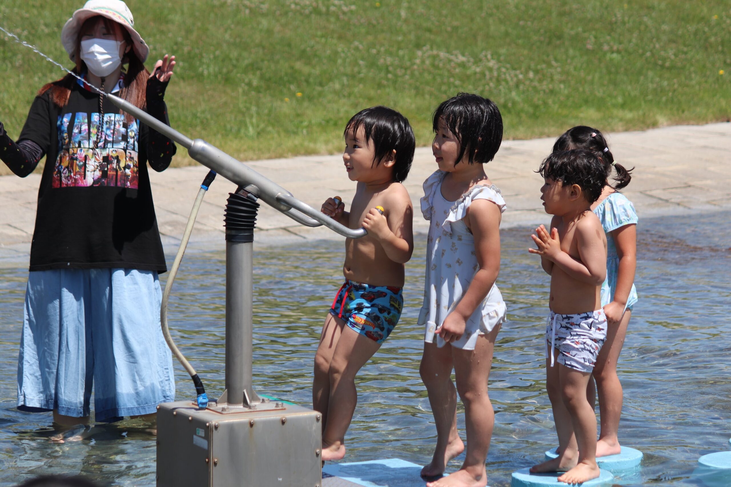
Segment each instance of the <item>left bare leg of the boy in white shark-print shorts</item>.
M554 350L553 353L554 356L558 356L558 350ZM551 367L550 358L546 358L546 389L553 409L553 422L556 423L556 433L558 434L558 458L534 465L531 467L531 472L565 472L576 466L579 453L571 416L561 394L558 364Z

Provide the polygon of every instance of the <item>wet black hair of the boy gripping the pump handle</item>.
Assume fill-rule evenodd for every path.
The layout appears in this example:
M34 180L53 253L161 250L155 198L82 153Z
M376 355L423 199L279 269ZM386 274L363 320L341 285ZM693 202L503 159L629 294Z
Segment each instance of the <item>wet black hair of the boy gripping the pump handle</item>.
M409 175L416 148L416 138L409 120L393 108L382 105L366 108L348 120L343 137L347 137L349 131L357 133L360 127L366 132L366 143L373 141L374 163L380 164L383 158L395 150L393 179L397 183L405 180Z

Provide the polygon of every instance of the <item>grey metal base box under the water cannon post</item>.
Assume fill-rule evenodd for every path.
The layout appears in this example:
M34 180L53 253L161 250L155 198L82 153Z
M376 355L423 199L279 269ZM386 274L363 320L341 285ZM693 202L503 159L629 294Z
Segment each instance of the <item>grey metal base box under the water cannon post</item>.
M157 411L157 487L319 487L320 414L270 402L255 409Z

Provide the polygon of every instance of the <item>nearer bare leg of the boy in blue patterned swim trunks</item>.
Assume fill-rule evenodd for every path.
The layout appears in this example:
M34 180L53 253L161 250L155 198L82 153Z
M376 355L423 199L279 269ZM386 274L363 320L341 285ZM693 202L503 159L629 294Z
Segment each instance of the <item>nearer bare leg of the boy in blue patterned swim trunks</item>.
M332 405L322 434L322 461L345 456L345 433L355 412L358 396L355 375L381 348L377 342L345 327L330 361L330 402Z

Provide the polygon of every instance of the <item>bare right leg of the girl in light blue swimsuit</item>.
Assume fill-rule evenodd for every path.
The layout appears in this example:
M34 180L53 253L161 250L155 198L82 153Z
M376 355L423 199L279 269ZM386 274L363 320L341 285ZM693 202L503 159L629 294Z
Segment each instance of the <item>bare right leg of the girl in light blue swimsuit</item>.
M596 389L599 391L599 441L596 442L596 456L616 455L621 452L619 439L619 418L622 414L622 385L617 376L619 353L624 345L627 325L632 312L626 310L618 326L607 329L607 340L599 350L594 367Z

